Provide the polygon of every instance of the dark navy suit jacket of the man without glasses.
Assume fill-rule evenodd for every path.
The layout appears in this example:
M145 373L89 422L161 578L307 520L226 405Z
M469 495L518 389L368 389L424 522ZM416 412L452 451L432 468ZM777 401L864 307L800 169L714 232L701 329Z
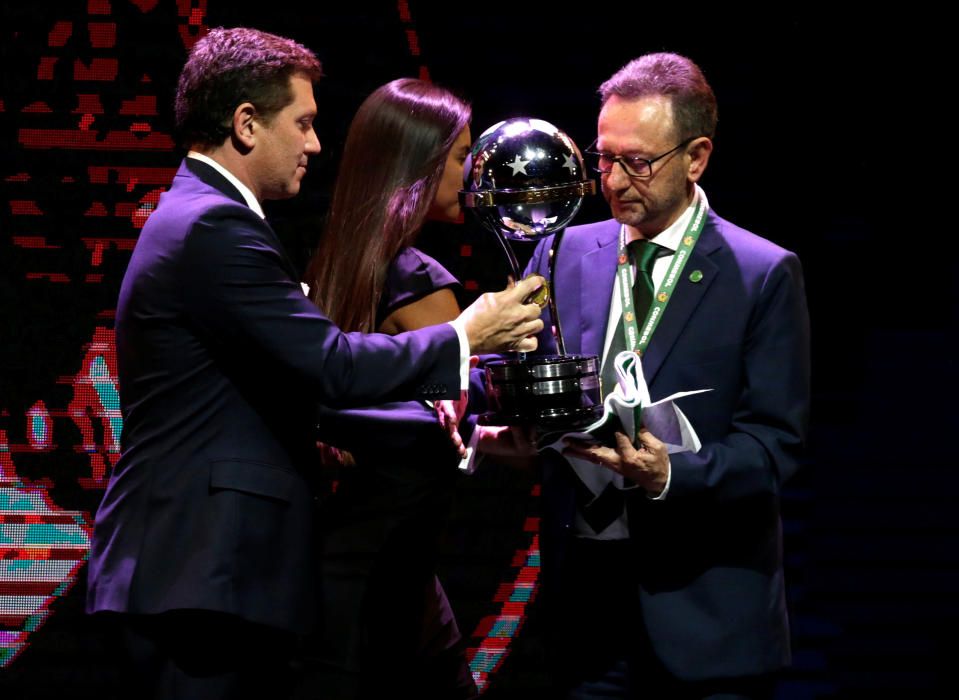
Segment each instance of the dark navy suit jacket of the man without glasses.
M117 307L123 455L96 517L88 609L313 619L316 406L459 395L449 325L344 334L269 225L187 159Z

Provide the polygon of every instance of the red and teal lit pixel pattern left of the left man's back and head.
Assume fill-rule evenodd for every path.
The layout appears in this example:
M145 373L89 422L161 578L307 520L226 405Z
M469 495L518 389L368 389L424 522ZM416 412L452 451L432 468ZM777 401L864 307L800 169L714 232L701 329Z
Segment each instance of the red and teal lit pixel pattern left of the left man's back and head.
M83 294L118 281L109 278L105 262L111 255L125 260L133 249L173 178L176 157L171 135L160 126L152 64L123 57L136 54L136 42L154 25L171 31L166 41L182 63L206 31L206 0L89 0L63 12L70 16L13 32L30 57L31 74L21 76L25 94L0 95L0 113L17 113L13 171L5 163L2 173L3 205L10 245L24 261L15 281L24 296L40 296L47 285ZM166 69L161 63L158 71ZM142 66L144 72L131 74ZM68 390L51 395L68 400L37 397L23 415L21 444L11 444L0 429L0 668L29 645L88 557L92 514L64 509L51 492L69 478L57 469L58 450L83 456L88 468L74 478L87 490L105 486L119 457L113 315L112 308L93 315L77 364L57 379ZM0 409L16 420L4 400L0 395ZM78 444L58 444L77 433ZM55 478L23 476L18 459L35 455L50 460Z

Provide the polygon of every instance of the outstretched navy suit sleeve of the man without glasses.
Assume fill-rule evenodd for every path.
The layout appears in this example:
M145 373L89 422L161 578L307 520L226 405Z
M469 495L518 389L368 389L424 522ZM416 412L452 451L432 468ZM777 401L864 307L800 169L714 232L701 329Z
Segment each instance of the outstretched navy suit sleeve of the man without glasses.
M187 313L214 350L249 351L311 385L328 406L458 395L459 343L449 324L396 336L341 332L303 295L274 234L249 209L206 212L184 245Z

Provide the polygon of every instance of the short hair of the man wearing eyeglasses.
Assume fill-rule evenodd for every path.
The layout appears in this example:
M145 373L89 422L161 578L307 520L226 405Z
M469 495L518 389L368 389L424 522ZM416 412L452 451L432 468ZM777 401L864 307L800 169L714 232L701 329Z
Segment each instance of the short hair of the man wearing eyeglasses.
M603 104L613 95L638 100L651 95L668 97L673 104L676 138L716 134L716 96L695 63L675 53L640 56L599 86Z

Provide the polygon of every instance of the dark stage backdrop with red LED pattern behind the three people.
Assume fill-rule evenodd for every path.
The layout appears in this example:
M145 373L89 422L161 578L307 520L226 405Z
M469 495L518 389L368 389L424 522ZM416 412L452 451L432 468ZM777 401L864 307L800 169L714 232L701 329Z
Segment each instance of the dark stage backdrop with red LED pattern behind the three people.
M176 76L217 25L292 36L323 60L323 153L299 197L267 208L301 266L349 119L383 82L419 75L460 91L474 105L474 134L534 115L582 147L595 133L596 86L626 60L670 49L700 62L720 101L710 201L800 254L813 318L813 445L784 496L796 666L783 696L879 697L945 677L951 657L934 630L959 617L949 516L959 477L929 436L957 424L937 390L955 380L946 348L956 276L923 278L920 304L890 291L880 244L899 238L895 212L910 197L871 177L889 166L878 154L915 145L891 138L877 106L890 91L890 30L901 16L839 22L794 9L751 19L755 30L718 10L692 21L648 8L560 15L548 3L234 5L3 3L4 698L103 698L114 687L102 631L82 614L92 514L120 448L113 314L137 234L181 155L171 136ZM903 175L921 170L895 163ZM579 221L605 215L596 197ZM502 254L470 220L425 231L423 247L464 282L464 303L505 277ZM927 406L921 420L903 419L902 386ZM462 486L446 535L444 582L489 697L529 696L543 680L538 517L535 473L493 468Z

